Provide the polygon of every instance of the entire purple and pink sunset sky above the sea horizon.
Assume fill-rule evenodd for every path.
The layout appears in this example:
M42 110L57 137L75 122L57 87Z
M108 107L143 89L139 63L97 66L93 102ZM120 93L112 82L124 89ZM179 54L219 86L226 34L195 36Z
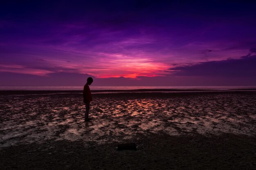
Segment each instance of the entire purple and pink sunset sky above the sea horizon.
M256 85L256 2L6 0L0 85Z

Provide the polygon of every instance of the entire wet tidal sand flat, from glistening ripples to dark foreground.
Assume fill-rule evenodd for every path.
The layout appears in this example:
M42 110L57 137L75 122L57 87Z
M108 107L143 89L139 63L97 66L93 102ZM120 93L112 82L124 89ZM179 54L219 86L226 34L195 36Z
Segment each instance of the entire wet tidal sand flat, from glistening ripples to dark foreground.
M0 95L1 169L254 169L255 92ZM116 151L135 142L137 151Z

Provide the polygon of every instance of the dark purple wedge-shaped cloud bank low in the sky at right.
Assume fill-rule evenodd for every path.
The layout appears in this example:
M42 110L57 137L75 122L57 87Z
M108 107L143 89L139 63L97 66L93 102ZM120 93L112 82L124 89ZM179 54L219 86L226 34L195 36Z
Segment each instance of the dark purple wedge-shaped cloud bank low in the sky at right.
M256 77L256 55L170 68L172 75Z

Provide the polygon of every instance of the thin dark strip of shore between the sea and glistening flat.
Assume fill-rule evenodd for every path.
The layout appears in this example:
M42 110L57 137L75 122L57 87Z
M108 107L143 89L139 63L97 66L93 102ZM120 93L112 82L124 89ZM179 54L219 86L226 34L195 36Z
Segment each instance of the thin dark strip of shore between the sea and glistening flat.
M256 88L252 89L229 89L229 90L209 90L209 89L137 89L137 90L92 90L92 93L207 93L207 92L254 92ZM0 95L32 95L32 94L52 94L52 93L82 93L82 90L0 90Z

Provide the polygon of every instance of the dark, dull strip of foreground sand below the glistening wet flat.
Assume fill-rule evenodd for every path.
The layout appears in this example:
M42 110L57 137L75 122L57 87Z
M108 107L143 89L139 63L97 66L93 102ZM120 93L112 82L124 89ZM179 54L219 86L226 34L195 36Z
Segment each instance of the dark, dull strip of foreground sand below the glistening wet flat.
M130 141L130 140L129 140ZM223 134L150 135L133 139L137 151L116 151L117 143L85 147L52 141L2 148L1 169L40 170L255 170L256 138Z

